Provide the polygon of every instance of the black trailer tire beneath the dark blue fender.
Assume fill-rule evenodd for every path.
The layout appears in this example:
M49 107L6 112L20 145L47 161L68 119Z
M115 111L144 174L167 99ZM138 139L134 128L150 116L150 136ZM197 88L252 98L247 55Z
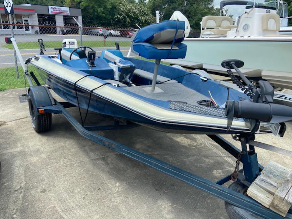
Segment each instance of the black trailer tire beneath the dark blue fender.
M40 133L50 130L52 126L52 113L37 114L36 103L32 91L28 93L28 104L30 108L30 120L33 125L33 129Z

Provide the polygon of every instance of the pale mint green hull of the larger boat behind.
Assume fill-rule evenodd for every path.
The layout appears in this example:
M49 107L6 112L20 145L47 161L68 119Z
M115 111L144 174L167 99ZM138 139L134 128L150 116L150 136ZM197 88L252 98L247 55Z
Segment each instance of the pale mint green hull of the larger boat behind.
M226 59L239 59L245 63L241 71L246 76L261 77L275 87L292 89L289 60L292 37L187 38L183 43L188 47L186 58L166 62L226 73L226 69L221 67L221 62Z

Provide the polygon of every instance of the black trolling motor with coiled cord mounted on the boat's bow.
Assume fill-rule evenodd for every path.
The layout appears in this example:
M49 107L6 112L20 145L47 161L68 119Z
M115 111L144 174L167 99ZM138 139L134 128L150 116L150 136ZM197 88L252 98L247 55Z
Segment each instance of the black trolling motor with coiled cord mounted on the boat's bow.
M236 82L239 88L251 99L244 101L228 100L225 105L225 116L228 119L227 128L230 130L233 118L243 118L249 124L252 133L259 130L261 122L266 123L280 123L279 130L282 133L278 135L283 136L286 126L284 122L292 121L292 107L283 106L273 103L274 89L267 81L259 81L259 88L242 74L238 69L243 66L243 61L230 59L224 60L221 66L227 68L227 73L231 76L232 82ZM242 81L248 86L247 88L233 75L231 69L234 69Z

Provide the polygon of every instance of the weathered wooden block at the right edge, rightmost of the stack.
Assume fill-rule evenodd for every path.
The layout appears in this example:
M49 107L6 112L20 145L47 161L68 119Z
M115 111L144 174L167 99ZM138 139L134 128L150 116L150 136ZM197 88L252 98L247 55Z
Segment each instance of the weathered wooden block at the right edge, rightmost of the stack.
M292 172L283 181L281 187L276 191L275 195L273 196L273 200L270 204L270 208L272 210L273 209L279 210L281 212L281 215L285 217L291 205L292 205Z

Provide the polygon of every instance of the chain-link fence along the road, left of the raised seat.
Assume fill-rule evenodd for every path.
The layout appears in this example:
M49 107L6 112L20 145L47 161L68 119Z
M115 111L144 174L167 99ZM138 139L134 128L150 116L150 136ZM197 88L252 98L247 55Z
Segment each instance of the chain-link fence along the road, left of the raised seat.
M12 35L11 27L24 60L40 53L38 39L43 39L46 48L44 53L50 55L56 54L54 48L60 48L64 39L75 39L78 46L91 47L96 51L96 55L100 55L104 49L115 49L115 43L118 42L123 55L127 56L130 38L137 31L137 29L99 26L81 28L77 24L56 26L54 23L41 25L0 23L0 91L25 86L24 72L19 60L15 61L13 46L5 43L5 37Z

